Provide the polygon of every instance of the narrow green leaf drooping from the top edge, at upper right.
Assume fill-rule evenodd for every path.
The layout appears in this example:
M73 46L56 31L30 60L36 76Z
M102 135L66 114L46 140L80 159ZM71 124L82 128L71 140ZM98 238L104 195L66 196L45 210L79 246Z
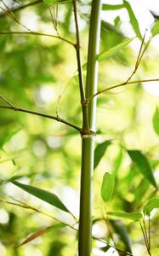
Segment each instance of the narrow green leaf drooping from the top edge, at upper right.
M139 23L138 23L138 20L136 19L136 16L133 13L133 9L131 8L131 5L130 5L130 3L128 3L128 1L123 0L123 3L124 3L125 8L128 11L130 23L133 26L133 31L141 39L142 35L141 35L140 30L139 30Z

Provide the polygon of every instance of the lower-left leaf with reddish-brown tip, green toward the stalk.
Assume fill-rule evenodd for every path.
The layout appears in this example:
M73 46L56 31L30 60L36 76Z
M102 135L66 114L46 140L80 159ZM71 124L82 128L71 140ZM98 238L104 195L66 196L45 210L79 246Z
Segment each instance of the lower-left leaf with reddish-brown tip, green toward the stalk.
M32 234L31 236L27 237L25 241L23 241L22 243L20 243L20 245L18 247L21 247L22 245L25 245L26 243L35 240L37 237L43 236L45 234L47 234L48 232L53 232L56 230L60 230L62 228L65 227L65 224L63 223L59 223L59 224L55 224L54 226L48 227L47 229L43 229L40 230L34 234Z

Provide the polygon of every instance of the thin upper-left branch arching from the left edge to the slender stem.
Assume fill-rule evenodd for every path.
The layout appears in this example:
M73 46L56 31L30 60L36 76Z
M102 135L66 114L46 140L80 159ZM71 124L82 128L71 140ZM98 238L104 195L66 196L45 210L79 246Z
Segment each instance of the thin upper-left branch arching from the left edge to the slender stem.
M57 38L60 39L61 41L64 41L65 43L71 44L73 47L75 47L75 44L72 43L71 41L62 38L60 36L52 35L52 34L45 34L43 32L19 32L19 31L11 31L11 32L5 32L5 31L0 31L0 35L9 35L9 34L20 34L20 35L31 35L31 36L43 36L43 37L49 37L49 38Z

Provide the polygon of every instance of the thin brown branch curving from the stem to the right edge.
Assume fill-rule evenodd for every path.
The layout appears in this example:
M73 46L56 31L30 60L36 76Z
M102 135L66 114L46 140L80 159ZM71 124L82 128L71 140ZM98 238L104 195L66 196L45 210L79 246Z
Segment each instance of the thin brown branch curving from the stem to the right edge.
M159 79L143 79L143 80L135 80L135 81L129 81L129 82L123 82L121 84L115 84L110 87L105 88L104 90L99 90L97 91L93 96L90 96L87 101L90 102L95 96L99 96L99 94L107 91L107 90L112 90L118 87L121 87L123 85L128 85L128 84L138 84L138 83L147 83L147 82L157 82Z

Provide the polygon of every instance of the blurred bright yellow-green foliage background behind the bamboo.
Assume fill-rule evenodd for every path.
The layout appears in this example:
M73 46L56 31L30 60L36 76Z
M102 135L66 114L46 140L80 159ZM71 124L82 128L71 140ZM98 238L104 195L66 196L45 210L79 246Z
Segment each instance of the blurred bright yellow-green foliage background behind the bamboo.
M60 118L81 126L77 60L72 45L59 38L21 33L3 34L25 31L57 35L49 11L51 9L52 15L55 14L56 6L52 9L51 6L48 8L47 3L37 2L26 9L14 11L31 1L5 1L9 9L13 9L11 13L9 10L6 13L6 6L1 2L0 6L5 11L1 9L0 13L0 94L14 106L54 116L58 113ZM122 20L121 10L128 15L131 35L123 29L125 21ZM78 11L84 64L87 61L89 1L78 1ZM106 14L112 13L110 22L106 20ZM104 55L99 62L99 90L128 79L139 53L139 39L143 35L133 5L131 7L127 1L118 5L104 4L102 17L100 52L112 49L129 36L137 38L120 50L113 49L112 55ZM157 17L154 18L154 14L151 14L151 17L153 22L156 22ZM75 43L72 3L58 5L57 20L60 36ZM157 26L156 22L154 34L158 33ZM146 37L148 35L149 31ZM156 38L157 35L146 49L134 80L158 79L156 60L159 52L155 44ZM156 87L152 90L154 84ZM157 196L157 87L158 83L152 82L146 85L128 84L98 97L93 235L108 241L112 247L120 248L125 253L133 251L134 256L147 253L139 221L135 221L136 217L133 220L127 219L126 216L112 217L111 213L142 212L149 199ZM7 106L2 98L1 105ZM29 113L3 108L0 112L0 254L75 255L77 231L65 224L59 224L53 218L76 228L75 219L69 213L62 212L24 192L14 183L9 183L9 179L14 177L20 183L52 191L60 196L69 211L78 216L81 140L77 131L55 120ZM112 181L110 177L111 188L114 183L115 187L114 191L109 190L110 194L104 196L104 203L100 190L105 182L105 172L112 173L114 179ZM102 195L103 193L101 192ZM157 204L158 201L152 202L150 211ZM111 213L106 215L106 212ZM157 213L150 219L152 255L159 254L156 228L158 220ZM148 230L148 221L146 226ZM33 233L39 237L17 248ZM43 234L45 235L42 236ZM111 255L114 250L96 240L93 245L94 255ZM120 251L118 253L124 255Z

